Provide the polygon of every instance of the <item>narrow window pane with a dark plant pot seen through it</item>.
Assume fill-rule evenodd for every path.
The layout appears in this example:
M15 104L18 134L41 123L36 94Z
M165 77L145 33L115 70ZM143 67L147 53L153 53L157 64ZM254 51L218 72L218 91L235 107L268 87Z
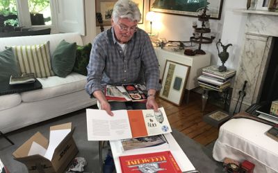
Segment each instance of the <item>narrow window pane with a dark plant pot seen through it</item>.
M32 26L51 25L50 0L28 0Z

